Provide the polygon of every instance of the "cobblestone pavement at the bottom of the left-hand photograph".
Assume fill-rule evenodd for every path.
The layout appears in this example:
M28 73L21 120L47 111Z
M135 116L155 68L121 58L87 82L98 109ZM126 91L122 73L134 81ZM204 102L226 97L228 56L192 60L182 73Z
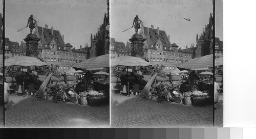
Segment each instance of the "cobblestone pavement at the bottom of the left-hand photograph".
M109 105L76 105L9 96L5 127L109 127Z

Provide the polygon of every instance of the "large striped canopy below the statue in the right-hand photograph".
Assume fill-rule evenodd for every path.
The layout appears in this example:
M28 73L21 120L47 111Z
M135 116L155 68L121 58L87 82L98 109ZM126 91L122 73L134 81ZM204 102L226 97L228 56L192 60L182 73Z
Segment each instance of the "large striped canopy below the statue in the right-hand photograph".
M145 60L137 57L118 57L111 59L111 66L150 66L152 64L146 62Z

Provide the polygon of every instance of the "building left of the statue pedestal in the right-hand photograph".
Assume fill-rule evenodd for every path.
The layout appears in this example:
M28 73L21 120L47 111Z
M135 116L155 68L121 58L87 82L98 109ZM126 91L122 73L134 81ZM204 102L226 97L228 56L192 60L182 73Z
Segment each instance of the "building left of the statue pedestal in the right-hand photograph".
M123 42L117 42L114 38L110 39L110 58L118 58L127 55L126 47Z

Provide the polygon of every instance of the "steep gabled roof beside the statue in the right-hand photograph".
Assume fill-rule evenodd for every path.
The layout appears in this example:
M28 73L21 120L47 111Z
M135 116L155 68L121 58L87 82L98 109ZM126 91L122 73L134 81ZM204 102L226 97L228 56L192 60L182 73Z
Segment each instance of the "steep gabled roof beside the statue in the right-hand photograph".
M148 48L152 49L151 45L155 45L158 40L161 41L163 47L171 47L172 45L169 42L168 36L165 31L159 30L159 35L157 34L157 29L152 29L150 27L143 26L144 34L148 38L146 39Z

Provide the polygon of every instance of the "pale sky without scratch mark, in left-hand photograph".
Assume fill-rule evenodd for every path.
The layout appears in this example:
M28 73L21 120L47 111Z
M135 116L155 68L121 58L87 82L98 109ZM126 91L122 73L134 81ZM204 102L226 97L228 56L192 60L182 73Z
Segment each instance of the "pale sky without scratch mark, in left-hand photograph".
M70 42L76 48L91 44L91 34L95 34L103 23L106 13L106 0L8 0L6 1L5 36L20 44L28 34L26 27L31 14L38 26L53 26L64 35L65 43Z

